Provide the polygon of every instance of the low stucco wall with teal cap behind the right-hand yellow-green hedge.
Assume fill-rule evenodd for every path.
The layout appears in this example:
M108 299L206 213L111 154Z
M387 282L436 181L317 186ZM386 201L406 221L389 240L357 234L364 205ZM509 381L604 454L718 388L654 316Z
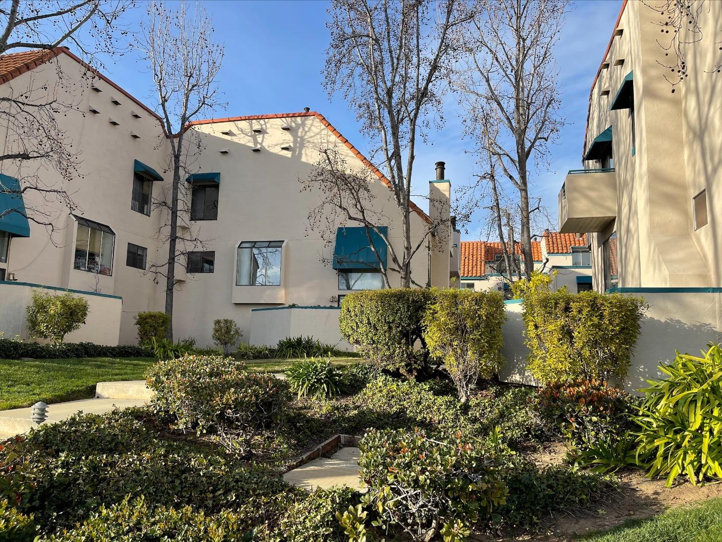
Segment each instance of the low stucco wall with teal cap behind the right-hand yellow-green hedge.
M661 377L657 366L674 359L675 350L697 356L707 343L722 342L722 293L711 288L708 292L645 290L626 292L642 296L650 305L641 322L630 374L622 382L627 392L644 387L646 379ZM499 371L499 379L536 384L525 369L529 349L523 343L521 303L506 301L506 309L508 320L502 327L502 353L507 361Z

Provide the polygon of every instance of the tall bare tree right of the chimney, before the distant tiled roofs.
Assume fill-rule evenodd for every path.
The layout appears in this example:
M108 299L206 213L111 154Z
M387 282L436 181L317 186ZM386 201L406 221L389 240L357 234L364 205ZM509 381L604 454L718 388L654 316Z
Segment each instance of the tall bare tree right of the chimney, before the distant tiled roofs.
M500 130L488 147L519 196L524 273L531 277L530 168L547 157L562 120L553 50L562 28L565 0L477 0L468 25L455 32L464 51L451 85L464 93L474 127L492 114ZM539 205L536 205L539 207Z

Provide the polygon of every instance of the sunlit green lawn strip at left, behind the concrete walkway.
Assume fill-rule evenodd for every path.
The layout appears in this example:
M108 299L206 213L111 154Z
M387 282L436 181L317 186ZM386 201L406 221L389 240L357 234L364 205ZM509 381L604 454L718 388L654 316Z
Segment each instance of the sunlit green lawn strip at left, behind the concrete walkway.
M95 384L139 380L154 358L0 359L0 410L95 395Z

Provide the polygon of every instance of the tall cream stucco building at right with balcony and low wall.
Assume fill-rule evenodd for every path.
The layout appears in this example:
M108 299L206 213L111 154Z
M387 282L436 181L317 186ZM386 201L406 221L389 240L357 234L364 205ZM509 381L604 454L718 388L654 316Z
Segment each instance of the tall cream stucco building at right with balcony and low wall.
M632 388L675 349L722 340L722 2L679 24L654 6L622 3L591 87L583 168L559 194L560 231L589 241L593 288L650 305ZM684 59L666 48L673 38Z

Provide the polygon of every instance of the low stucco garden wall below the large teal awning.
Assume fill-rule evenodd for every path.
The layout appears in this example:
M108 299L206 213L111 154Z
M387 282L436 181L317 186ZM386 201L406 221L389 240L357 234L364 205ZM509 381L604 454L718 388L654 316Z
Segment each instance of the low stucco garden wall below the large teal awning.
M339 331L338 307L279 306L251 310L251 333L248 344L255 346L278 343L284 337L313 337L321 343L353 350Z

